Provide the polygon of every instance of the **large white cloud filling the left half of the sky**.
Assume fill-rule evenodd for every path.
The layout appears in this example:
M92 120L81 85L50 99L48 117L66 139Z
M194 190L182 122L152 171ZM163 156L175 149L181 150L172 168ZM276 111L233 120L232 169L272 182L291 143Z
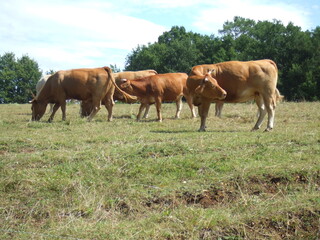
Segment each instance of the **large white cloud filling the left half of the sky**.
M99 2L0 3L0 54L28 54L43 70L117 64L119 52L157 40L166 29ZM58 69L57 69L58 68Z

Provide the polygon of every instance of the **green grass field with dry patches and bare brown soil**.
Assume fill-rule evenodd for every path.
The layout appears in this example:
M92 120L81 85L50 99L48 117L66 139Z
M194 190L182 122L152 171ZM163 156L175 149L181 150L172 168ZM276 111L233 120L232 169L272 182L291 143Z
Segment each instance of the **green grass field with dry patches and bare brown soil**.
M207 132L187 104L138 107L0 105L0 239L320 239L319 102L280 103L270 133L254 104L211 106Z

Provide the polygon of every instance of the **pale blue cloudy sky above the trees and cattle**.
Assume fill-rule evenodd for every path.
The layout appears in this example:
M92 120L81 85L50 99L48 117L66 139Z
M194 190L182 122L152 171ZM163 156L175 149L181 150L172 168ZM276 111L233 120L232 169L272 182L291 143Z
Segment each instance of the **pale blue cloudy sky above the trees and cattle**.
M172 26L219 36L235 16L312 31L320 26L320 1L0 0L0 55L28 55L44 74L110 64L123 70L133 49Z

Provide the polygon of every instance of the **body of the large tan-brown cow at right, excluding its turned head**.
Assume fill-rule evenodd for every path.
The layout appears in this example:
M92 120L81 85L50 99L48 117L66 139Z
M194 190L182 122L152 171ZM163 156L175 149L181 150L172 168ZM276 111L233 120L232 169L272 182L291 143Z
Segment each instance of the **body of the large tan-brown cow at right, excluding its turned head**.
M227 92L225 99L214 100L206 86L202 86L201 82L195 82L192 79L192 76L203 74L208 70L212 71L211 76ZM194 96L194 104L201 104L199 131L205 131L211 102L215 101L222 106L223 103L240 103L249 100L255 100L259 110L258 120L252 130L258 130L261 127L262 121L268 113L268 124L265 131L271 131L274 126L276 103L281 98L276 88L277 80L277 65L269 59L248 62L229 61L194 66L189 74L187 86ZM202 86L201 91L196 91L198 86Z

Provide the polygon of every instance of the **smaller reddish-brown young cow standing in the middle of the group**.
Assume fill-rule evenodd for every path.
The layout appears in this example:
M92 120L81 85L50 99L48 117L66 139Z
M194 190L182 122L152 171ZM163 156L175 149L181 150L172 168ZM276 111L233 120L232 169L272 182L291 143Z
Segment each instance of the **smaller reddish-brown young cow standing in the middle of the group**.
M123 79L120 88L127 93L137 96L141 102L137 120L141 119L142 111L150 104L155 103L158 121L162 121L161 103L172 101L177 104L176 118L180 117L182 108L182 97L184 96L195 117L192 98L186 87L188 75L185 73L166 73L149 76L145 78L127 80Z

